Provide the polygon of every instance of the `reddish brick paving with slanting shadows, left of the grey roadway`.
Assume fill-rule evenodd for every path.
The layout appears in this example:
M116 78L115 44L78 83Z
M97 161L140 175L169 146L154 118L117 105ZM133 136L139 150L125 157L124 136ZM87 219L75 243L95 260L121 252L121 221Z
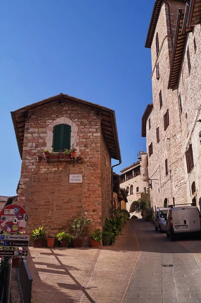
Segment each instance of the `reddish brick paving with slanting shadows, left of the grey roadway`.
M131 219L112 246L29 248L32 303L121 303L140 251Z

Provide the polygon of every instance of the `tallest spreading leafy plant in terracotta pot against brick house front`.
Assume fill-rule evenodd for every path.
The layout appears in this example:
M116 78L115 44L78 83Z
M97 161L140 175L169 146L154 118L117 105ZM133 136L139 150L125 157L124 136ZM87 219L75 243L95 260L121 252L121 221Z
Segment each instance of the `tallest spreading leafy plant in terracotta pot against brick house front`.
M82 236L86 229L91 224L91 219L87 219L85 216L78 217L73 221L72 229L74 231L75 238L73 239L73 247L82 247Z

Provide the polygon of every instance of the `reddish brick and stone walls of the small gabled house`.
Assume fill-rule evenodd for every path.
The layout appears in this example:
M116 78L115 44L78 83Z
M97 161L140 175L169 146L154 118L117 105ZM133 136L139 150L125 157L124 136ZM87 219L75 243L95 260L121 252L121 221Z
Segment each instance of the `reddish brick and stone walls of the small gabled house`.
M47 163L44 158L37 162L37 156L42 156L42 150L49 144L49 125L56 120L61 123L64 119L69 119L76 127L74 142L83 163ZM29 216L28 232L38 226L44 226L49 232L66 229L75 217L81 215L91 218L95 227L102 226L102 216L109 212L111 189L110 157L106 151L104 166L101 155L104 148L100 119L94 110L71 102L65 106L54 102L32 112L25 125L18 192L18 203L25 206ZM110 177L109 180L103 182L101 170L104 178ZM83 182L69 183L69 174L82 174ZM102 182L104 188L109 186L104 196Z

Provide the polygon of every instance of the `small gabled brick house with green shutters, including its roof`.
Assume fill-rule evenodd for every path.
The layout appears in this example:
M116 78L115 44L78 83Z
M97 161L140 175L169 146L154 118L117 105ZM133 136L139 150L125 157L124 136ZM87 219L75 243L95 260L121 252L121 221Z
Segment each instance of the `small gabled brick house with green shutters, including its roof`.
M22 158L18 203L27 210L28 232L68 229L82 215L102 228L112 206L111 158L121 162L115 112L59 94L11 114ZM76 157L63 159L60 150L73 145ZM45 159L43 149L52 147L59 157ZM79 178L71 182L72 175Z

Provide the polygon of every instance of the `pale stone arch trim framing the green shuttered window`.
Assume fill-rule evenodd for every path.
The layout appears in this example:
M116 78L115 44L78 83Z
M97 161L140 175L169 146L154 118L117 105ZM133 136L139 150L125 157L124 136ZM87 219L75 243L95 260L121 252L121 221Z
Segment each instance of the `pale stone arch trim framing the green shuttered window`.
M51 151L53 145L53 128L58 124L68 124L71 126L71 147L74 144L77 148L77 153L79 153L79 146L77 146L77 142L79 141L79 137L77 135L78 127L72 120L66 117L58 118L46 127L47 135L45 137L46 146L44 149Z

